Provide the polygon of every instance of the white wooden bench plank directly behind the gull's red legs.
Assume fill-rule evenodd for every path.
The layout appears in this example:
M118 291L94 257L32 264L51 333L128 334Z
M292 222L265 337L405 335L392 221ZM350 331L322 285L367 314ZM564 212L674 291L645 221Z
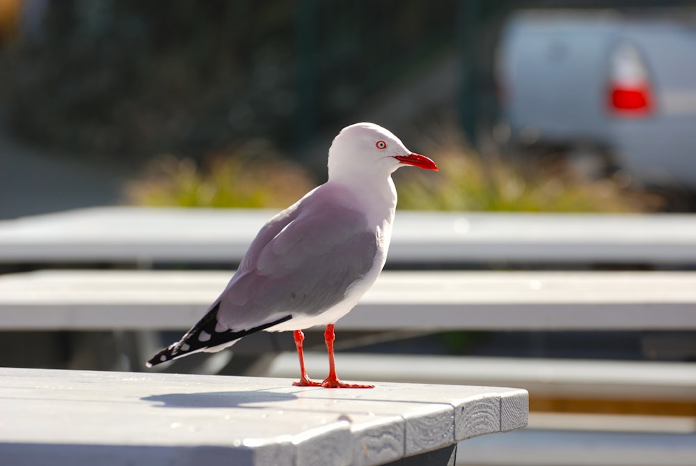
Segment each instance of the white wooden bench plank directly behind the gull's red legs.
M297 356L284 352L269 364L270 377L291 377ZM305 352L310 376L328 371L324 352ZM623 400L673 400L696 403L696 364L679 362L596 361L503 357L336 355L339 375L348 379L390 380L452 385L521 387L536 396ZM317 375L315 375L317 374ZM527 410L505 400L509 419ZM469 421L475 417L468 417Z

